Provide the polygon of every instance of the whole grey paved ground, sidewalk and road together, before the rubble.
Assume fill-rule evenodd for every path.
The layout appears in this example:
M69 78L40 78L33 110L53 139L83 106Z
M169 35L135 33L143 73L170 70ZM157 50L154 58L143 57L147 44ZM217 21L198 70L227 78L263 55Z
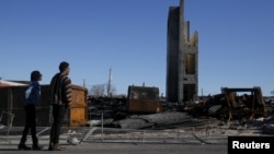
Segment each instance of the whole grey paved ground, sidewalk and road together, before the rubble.
M0 135L0 154L227 154L227 135L240 134L239 131L224 130L222 135L217 133L205 133L207 131L195 131L187 129L171 130L121 130L121 129L90 129L73 128L64 129L60 135L62 151L47 151L48 130L39 129L39 143L45 145L43 151L18 151L22 128L14 128L11 135ZM47 130L47 131L43 131ZM92 133L89 133L91 130ZM220 130L219 130L220 131ZM222 132L222 131L220 131ZM85 134L89 134L84 138ZM244 131L241 134L254 134L253 131ZM87 139L80 144L68 143L71 138ZM27 145L32 144L28 138Z

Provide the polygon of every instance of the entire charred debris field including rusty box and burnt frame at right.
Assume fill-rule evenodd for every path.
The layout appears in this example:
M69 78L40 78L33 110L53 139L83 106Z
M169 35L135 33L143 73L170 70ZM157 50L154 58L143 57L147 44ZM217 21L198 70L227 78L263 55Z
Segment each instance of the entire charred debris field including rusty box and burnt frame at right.
M88 106L88 125L105 128L165 129L214 123L229 128L259 127L272 134L274 130L274 104L263 97L258 86L224 87L220 94L183 103L165 102L159 97L158 87L129 86L127 96L89 96Z

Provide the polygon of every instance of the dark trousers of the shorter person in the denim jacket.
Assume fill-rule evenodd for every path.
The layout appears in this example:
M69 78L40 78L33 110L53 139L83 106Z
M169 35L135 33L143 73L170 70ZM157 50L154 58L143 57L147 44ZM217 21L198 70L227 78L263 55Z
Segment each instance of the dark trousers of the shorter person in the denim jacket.
M24 106L25 109L25 127L22 132L22 138L20 144L25 144L27 133L31 129L33 145L37 144L37 137L36 137L36 110L35 105L28 104Z

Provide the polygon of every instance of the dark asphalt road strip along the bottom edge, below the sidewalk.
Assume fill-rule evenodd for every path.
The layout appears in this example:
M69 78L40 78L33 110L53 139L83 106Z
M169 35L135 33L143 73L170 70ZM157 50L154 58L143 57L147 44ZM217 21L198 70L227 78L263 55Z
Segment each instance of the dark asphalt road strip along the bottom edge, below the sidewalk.
M18 151L15 144L0 145L1 154L227 154L226 144L81 143L65 144L62 151Z

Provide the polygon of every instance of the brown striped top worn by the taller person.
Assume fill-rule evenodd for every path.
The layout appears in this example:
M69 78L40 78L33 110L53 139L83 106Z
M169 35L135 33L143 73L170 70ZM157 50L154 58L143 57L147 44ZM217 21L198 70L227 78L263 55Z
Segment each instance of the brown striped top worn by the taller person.
M50 105L65 105L71 104L71 80L61 73L53 76L49 85L49 102Z

